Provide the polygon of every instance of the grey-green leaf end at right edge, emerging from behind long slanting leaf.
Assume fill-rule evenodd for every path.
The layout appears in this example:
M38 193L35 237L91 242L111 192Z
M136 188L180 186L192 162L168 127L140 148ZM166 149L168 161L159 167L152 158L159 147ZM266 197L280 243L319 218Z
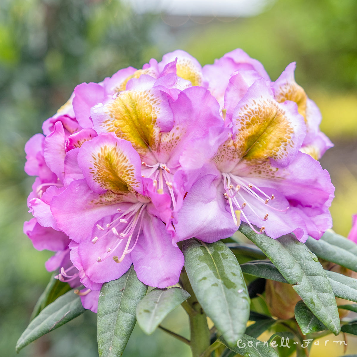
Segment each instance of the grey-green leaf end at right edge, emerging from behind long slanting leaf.
M325 270L336 297L357 302L357 280L340 273Z

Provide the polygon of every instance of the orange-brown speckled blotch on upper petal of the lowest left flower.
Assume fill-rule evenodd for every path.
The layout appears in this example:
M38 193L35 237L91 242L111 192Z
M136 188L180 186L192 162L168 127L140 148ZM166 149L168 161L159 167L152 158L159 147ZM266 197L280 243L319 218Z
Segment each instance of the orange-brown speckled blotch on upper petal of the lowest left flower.
M127 193L131 186L137 185L134 166L117 145L101 147L99 152L92 154L92 158L91 174L102 188L114 193Z

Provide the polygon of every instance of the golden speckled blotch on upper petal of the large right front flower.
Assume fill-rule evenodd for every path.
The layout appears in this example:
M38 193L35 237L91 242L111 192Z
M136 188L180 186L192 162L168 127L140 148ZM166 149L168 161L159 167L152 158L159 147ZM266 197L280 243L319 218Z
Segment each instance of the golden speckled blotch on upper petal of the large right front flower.
M239 130L234 138L240 157L260 164L269 157L286 156L294 133L285 111L269 100L251 100L237 114Z

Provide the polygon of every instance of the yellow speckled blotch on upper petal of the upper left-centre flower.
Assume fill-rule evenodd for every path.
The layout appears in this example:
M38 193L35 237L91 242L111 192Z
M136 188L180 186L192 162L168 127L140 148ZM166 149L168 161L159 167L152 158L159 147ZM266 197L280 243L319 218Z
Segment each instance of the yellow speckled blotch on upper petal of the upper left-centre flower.
M160 99L149 91L125 91L111 102L102 126L108 132L130 141L140 153L157 146L159 129L156 126Z

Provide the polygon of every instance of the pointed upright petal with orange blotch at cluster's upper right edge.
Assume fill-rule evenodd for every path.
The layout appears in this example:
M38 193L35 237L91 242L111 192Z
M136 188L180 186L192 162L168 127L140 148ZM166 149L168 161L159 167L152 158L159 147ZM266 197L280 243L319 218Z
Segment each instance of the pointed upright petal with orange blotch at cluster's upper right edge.
M306 102L307 95L303 88L295 82L294 78L295 63L288 65L275 81L273 88L275 90L275 100L278 103L291 100L297 104L299 114L304 117L306 122Z

